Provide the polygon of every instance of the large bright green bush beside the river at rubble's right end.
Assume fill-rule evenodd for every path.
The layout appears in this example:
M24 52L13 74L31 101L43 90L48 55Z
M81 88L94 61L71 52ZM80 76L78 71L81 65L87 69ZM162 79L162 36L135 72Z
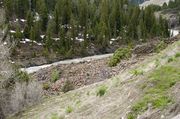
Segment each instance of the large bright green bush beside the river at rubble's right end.
M119 48L115 51L114 55L109 60L108 65L110 67L117 66L117 64L121 62L122 59L127 59L129 57L131 57L130 48Z

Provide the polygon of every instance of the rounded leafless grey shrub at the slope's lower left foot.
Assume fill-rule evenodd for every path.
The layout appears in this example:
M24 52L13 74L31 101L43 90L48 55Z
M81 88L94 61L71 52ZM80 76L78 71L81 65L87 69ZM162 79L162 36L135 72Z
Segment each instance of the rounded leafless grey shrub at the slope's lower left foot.
M16 83L11 95L10 107L13 112L19 112L27 106L32 106L40 101L42 87L38 82Z

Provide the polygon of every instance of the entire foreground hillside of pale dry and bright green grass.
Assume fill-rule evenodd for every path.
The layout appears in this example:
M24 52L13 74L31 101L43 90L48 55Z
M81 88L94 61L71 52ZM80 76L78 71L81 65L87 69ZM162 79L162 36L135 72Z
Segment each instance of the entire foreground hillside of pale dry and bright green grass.
M128 119L137 115L142 119L171 119L179 114L180 108L179 51L177 41L109 80L47 98L13 119L124 119L127 115ZM162 90L156 90L158 86ZM144 99L146 91L151 91L149 100Z

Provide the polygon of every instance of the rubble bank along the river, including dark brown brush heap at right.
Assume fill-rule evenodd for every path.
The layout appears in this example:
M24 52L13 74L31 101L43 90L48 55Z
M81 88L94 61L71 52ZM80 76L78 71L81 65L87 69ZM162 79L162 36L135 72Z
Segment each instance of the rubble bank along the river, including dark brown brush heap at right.
M178 37L171 38L168 44L176 41ZM123 60L116 67L109 67L109 58L105 57L97 60L83 60L83 62L60 63L49 66L33 73L32 76L45 86L45 94L58 94L62 91L66 81L72 83L73 89L77 89L96 82L101 82L135 66L152 55L156 54L153 49L159 44L158 40L151 43L138 45L133 49L133 55L129 60ZM56 81L52 81L56 75Z

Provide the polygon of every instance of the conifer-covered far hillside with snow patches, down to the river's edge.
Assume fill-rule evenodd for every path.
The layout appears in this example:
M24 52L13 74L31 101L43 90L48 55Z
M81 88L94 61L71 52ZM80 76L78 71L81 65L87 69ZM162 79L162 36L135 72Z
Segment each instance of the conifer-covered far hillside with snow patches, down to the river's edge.
M128 0L6 0L4 8L16 43L12 57L21 61L110 53L170 36L167 21L156 19L153 7L140 9Z

